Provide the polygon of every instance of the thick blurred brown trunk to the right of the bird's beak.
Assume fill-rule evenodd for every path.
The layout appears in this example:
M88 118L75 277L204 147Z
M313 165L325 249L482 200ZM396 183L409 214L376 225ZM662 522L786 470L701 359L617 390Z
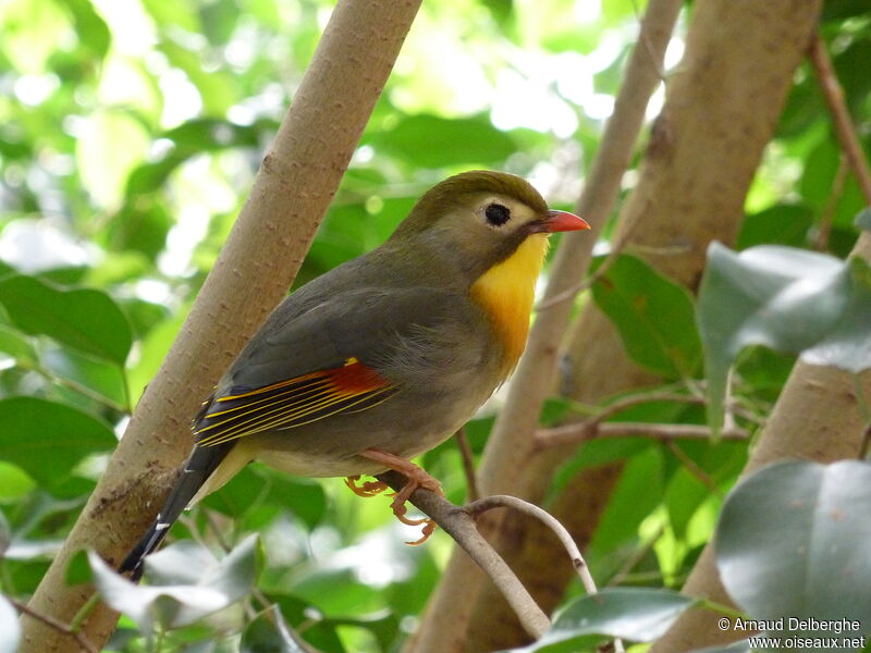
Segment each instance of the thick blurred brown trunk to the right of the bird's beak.
M695 4L686 53L667 85L638 185L621 215L631 226L629 248L660 271L695 289L709 243L732 242L744 217L744 201L765 144L771 138L810 36L819 2L755 0ZM649 384L652 379L623 353L611 323L588 305L573 330L568 353L574 368L572 396L591 403ZM519 486L537 476L541 498L556 465L571 451L548 453L517 470ZM608 505L621 465L585 471L569 483L554 514L586 542ZM538 527L508 515L498 550L533 595L551 609L573 578L560 560L559 545ZM593 574L594 574L593 569ZM476 599L465 651L518 645L526 636L486 587ZM498 626L494 626L498 625ZM662 651L674 651L665 648Z

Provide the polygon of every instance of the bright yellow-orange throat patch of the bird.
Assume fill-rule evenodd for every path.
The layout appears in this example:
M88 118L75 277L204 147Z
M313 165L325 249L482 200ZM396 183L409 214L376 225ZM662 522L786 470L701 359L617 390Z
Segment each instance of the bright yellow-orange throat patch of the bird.
M532 234L516 251L481 274L471 285L504 349L505 375L514 369L526 346L536 280L548 251L548 234Z

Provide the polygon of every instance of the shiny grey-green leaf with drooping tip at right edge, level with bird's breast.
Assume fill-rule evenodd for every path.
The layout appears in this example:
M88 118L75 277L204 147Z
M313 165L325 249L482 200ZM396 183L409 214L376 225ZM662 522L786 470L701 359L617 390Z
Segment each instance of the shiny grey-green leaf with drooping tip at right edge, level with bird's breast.
M723 422L729 366L749 345L802 352L815 365L871 367L867 263L778 246L740 254L713 243L699 289L709 419Z

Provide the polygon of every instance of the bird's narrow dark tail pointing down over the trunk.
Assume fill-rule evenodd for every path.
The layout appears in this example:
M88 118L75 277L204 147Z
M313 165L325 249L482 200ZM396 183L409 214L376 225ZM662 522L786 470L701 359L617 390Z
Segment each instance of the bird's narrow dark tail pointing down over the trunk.
M184 465L175 486L170 492L167 503L158 513L154 523L145 532L139 542L131 550L127 557L119 566L121 574L130 572L131 580L139 580L144 571L145 556L155 551L194 495L233 448L234 442L216 446L194 447L191 457Z

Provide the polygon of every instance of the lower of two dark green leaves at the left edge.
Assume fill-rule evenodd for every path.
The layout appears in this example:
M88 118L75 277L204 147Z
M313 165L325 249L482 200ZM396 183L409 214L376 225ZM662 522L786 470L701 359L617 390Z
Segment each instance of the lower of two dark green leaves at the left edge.
M116 443L108 424L64 404L0 399L0 459L14 463L45 488L59 488L82 458Z

